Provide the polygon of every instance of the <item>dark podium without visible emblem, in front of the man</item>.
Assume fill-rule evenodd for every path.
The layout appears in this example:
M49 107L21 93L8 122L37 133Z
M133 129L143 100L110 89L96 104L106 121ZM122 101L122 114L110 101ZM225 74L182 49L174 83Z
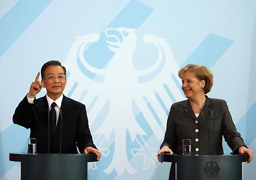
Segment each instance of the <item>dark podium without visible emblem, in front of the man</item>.
M21 180L87 179L87 163L96 155L10 153L10 161L21 162Z

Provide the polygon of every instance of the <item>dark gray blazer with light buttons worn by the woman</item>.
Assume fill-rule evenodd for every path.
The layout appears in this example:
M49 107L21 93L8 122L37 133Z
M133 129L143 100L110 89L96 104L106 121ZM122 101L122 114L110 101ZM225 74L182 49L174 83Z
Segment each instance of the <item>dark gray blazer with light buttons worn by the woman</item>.
M182 154L182 139L191 139L192 155L223 155L222 137L233 153L246 146L237 132L225 100L207 98L197 118L189 100L171 106L166 134L161 148L167 145L175 154Z

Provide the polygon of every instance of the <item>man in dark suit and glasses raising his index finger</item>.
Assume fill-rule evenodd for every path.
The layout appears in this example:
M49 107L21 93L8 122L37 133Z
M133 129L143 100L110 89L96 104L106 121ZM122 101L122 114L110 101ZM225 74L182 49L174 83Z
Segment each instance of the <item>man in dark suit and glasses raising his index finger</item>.
M36 138L38 153L59 153L60 147L61 153L77 153L78 147L80 153L94 153L100 160L101 153L93 144L85 105L63 95L67 83L65 67L59 61L49 61L41 68L41 82L39 76L40 72L15 109L13 122L30 128L30 138ZM42 88L46 88L47 95L36 99ZM52 104L55 104L53 108ZM53 131L49 128L51 109L56 112Z

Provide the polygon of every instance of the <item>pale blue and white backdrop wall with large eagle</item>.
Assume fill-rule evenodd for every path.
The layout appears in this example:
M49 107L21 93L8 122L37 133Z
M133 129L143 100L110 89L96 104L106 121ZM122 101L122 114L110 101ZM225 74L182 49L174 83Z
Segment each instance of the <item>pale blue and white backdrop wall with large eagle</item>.
M255 7L254 0L0 0L0 179L19 179L9 152L26 152L29 130L12 115L51 59L67 67L64 94L86 105L102 152L89 179L167 179L170 164L156 153L172 103L185 98L177 71L188 63L213 71L209 96L228 102L256 152ZM243 179L255 179L255 168L255 160L243 163Z

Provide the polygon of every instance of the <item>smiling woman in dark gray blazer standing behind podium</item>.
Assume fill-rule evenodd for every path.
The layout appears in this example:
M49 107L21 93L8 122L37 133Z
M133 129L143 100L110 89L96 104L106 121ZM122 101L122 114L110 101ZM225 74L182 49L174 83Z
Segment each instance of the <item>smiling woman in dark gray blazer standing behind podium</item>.
M253 152L237 132L226 101L206 96L213 85L212 72L203 65L189 64L179 70L179 77L187 100L171 106L158 160L160 153L182 155L183 139L191 139L192 155L223 155L224 136L233 153L247 153L247 162L251 162ZM169 179L175 179L174 165Z

